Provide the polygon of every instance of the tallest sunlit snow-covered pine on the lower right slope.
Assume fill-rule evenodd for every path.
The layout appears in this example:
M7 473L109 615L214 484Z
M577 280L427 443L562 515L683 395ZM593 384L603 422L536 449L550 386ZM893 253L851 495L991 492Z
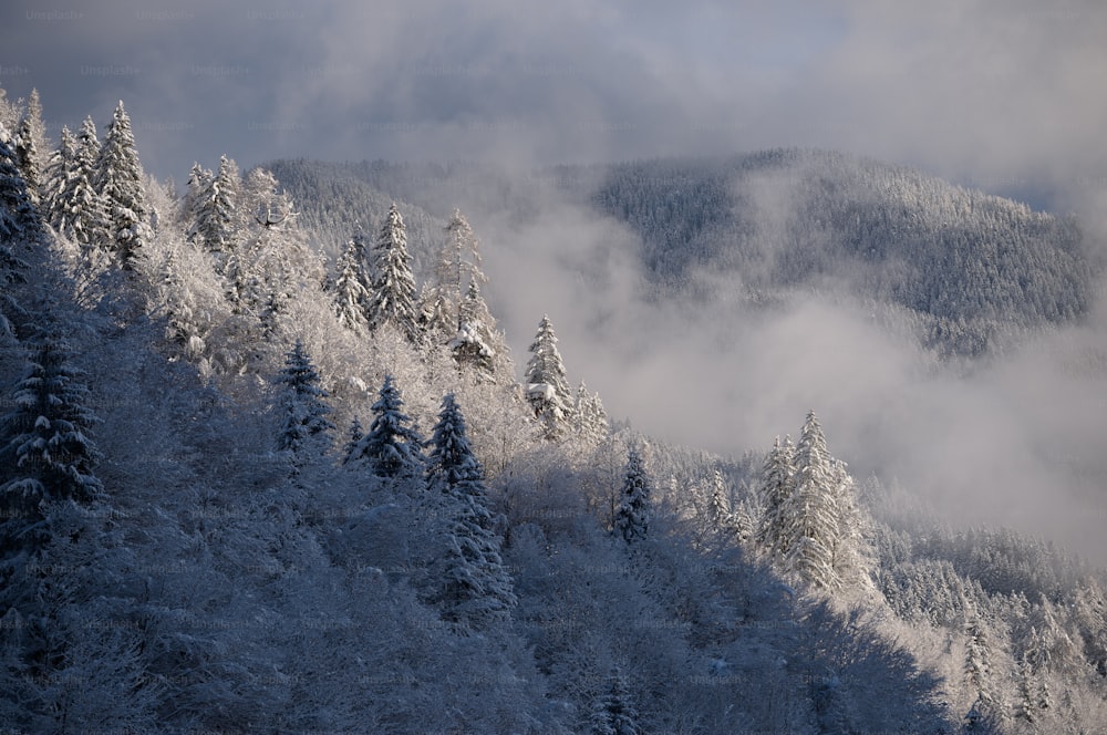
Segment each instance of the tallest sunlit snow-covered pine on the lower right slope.
M834 549L839 532L835 468L814 411L807 414L795 464L794 527L786 568L808 584L837 589L841 580L834 569Z

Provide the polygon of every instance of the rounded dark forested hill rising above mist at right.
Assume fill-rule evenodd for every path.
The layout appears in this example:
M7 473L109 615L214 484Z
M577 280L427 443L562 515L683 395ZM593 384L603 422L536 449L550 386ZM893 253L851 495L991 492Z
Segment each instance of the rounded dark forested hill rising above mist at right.
M663 282L710 267L755 289L845 283L968 330L958 352L982 351L997 325L1070 320L1092 298L1074 221L839 153L621 164L592 201L639 232Z

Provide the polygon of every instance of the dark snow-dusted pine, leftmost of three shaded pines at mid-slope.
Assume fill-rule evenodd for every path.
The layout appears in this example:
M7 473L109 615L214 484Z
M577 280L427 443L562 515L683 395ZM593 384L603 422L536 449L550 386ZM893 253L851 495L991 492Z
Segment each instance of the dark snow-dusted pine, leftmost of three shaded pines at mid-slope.
M330 432L334 429L328 418L327 391L320 386L311 358L300 340L284 359L284 369L278 381L283 385L283 421L277 437L277 449L289 454L292 467L299 472L309 460L320 457L330 448Z

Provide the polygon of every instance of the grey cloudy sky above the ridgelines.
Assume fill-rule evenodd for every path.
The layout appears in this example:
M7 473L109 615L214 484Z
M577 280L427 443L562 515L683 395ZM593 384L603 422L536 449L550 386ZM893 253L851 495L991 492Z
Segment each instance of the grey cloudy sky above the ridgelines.
M24 2L0 85L194 159L610 161L818 146L989 190L1107 186L1097 0Z

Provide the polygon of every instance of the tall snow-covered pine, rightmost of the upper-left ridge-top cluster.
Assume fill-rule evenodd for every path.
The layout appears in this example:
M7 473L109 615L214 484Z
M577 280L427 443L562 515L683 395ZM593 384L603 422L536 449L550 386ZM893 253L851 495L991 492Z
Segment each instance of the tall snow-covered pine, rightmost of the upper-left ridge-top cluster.
M133 270L153 232L147 222L142 164L131 132L131 117L122 100L104 137L96 174L96 185L107 208L110 247L123 269Z

